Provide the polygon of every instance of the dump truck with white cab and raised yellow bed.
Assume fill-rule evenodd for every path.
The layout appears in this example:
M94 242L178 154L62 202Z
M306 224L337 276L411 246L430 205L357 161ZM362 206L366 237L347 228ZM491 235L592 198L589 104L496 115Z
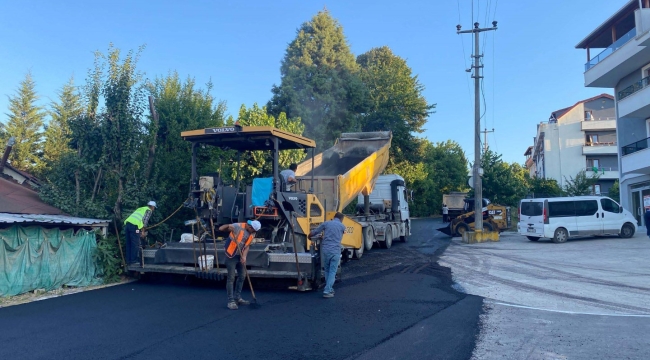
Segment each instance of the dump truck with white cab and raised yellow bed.
M356 213L346 214L342 245L359 259L375 243L390 248L396 238L410 235L410 215L404 179L398 175L377 179L388 165L392 134L388 131L344 133L337 143L298 165L298 187L313 189L325 207L326 219L357 200ZM314 187L311 187L313 176ZM386 189L388 193L386 193Z

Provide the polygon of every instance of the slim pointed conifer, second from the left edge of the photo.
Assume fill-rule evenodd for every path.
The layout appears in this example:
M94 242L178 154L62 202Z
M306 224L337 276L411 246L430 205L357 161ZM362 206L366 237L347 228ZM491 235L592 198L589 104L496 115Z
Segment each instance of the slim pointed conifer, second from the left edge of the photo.
M81 97L74 86L74 79L70 78L59 91L59 101L52 102L50 122L45 126L45 141L43 144L44 166L50 166L64 154L72 151L70 141L70 121L81 116L83 106Z

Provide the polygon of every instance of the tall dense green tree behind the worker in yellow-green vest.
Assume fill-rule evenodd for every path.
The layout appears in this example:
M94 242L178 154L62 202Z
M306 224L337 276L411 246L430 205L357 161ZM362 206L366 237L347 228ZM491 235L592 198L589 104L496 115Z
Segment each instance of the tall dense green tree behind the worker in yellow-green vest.
M122 58L112 44L107 54L95 53L83 113L69 123L74 152L46 172L40 193L66 212L88 217L112 213L122 220L124 207L135 209L148 198L140 160L145 102L136 70L139 53L129 51Z

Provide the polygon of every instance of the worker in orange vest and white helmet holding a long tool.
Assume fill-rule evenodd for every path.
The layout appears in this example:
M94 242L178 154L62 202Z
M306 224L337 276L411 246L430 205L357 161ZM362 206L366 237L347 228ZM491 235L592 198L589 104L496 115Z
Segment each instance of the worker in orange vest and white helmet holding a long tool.
M249 220L245 223L235 223L222 225L219 231L230 231L228 239L224 244L226 252L226 268L228 269L228 282L226 290L228 291L228 309L237 310L239 305L248 305L250 302L241 297L241 289L244 286L244 266L246 266L246 256L248 249L255 237L255 233L262 227L257 220ZM239 248L239 249L237 249ZM241 254L241 255L240 255ZM237 286L235 284L235 269L237 270Z

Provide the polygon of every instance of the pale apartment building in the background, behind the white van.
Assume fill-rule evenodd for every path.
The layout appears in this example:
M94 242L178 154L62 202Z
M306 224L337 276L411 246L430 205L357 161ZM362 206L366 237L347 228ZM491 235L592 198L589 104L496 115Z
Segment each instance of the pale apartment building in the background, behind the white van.
M606 195L618 179L614 97L601 94L553 111L537 125L534 145L526 149L532 176L555 179L561 187L585 170L598 174L592 194Z

